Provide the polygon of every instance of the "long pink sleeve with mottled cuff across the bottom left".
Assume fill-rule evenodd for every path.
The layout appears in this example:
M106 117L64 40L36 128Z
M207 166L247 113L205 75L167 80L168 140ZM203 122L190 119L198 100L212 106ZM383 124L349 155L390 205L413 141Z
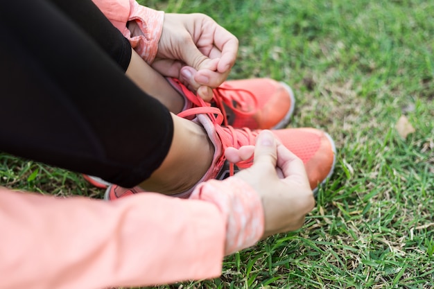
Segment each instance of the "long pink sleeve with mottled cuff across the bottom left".
M225 195L220 189L232 192L225 202L212 198ZM259 198L251 199L257 194L247 184L227 180L193 195L140 193L105 202L0 188L0 288L101 289L218 277L225 247L233 252L259 240L263 225L252 215L263 218L261 206L243 211L258 209ZM231 211L240 202L256 204ZM238 222L243 214L255 234Z

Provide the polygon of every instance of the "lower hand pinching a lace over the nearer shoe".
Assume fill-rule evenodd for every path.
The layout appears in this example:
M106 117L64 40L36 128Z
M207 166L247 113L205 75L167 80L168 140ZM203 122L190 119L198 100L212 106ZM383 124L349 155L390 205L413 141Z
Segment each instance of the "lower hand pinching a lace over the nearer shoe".
M265 216L263 238L300 229L306 213L315 205L303 162L269 130L259 134L256 146L227 148L225 156L238 162L249 159L253 152L253 165L234 177L248 182L261 196ZM281 177L276 168L281 170Z

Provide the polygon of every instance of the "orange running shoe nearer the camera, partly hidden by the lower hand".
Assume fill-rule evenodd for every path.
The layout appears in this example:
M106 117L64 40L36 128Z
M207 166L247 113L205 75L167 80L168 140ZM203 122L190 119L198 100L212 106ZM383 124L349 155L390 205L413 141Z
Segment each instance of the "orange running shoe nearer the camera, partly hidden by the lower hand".
M203 102L203 100L201 100ZM250 130L248 128L233 128L232 126L221 126L223 114L216 107L193 107L178 114L181 117L196 116L196 122L200 123L206 130L209 139L214 144L214 159L212 164L200 179L205 182L207 179L225 179L234 175L239 168L252 166L252 159L241 161L237 164L229 164L225 158L225 149L228 147L240 148L241 146L254 145L256 137L261 130ZM306 168L306 173L311 184L311 189L316 191L318 185L325 182L333 173L336 161L336 147L333 139L322 130L315 128L287 128L282 130L272 130L273 134L292 151L297 157L302 159ZM172 195L179 198L188 198L193 191L180 192ZM124 189L120 186L110 186L106 193L107 200L116 200L126 195L144 192L144 189L134 187Z

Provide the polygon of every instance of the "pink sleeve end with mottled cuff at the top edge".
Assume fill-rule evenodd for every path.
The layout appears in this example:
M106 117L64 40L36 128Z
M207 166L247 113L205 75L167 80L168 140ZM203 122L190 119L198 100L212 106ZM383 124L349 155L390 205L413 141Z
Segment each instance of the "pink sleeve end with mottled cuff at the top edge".
M132 48L148 64L157 55L159 37L161 37L164 12L139 5L135 0L93 0L112 24L125 36ZM140 28L140 35L132 36L127 28L128 21L135 21Z

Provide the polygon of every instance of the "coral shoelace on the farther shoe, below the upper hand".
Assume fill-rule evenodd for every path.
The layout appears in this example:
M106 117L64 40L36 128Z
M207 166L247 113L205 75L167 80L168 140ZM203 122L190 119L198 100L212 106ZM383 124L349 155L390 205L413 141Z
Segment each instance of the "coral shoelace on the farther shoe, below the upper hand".
M211 103L205 103L202 98L196 96L193 94L189 89L186 89L184 85L180 82L180 80L177 80L176 78L173 78L173 81L177 82L177 84L181 87L182 91L184 92L184 95L186 98L188 98L191 103L196 105L197 107L210 107ZM236 94L236 97L230 97L229 94L223 93L223 91L230 91L233 94ZM252 100L252 107L248 107L246 105L248 103L248 100ZM202 100L202 101L201 101ZM217 87L213 89L213 100L214 103L216 103L216 106L220 108L221 113L223 114L223 124L229 125L227 122L227 112L225 110L225 105L229 107L230 110L235 111L237 114L241 114L243 116L251 116L255 114L258 110L258 100L254 97L254 94L252 92L246 90L246 89L239 89L239 88L233 88L233 87ZM225 103L225 105L223 105Z

